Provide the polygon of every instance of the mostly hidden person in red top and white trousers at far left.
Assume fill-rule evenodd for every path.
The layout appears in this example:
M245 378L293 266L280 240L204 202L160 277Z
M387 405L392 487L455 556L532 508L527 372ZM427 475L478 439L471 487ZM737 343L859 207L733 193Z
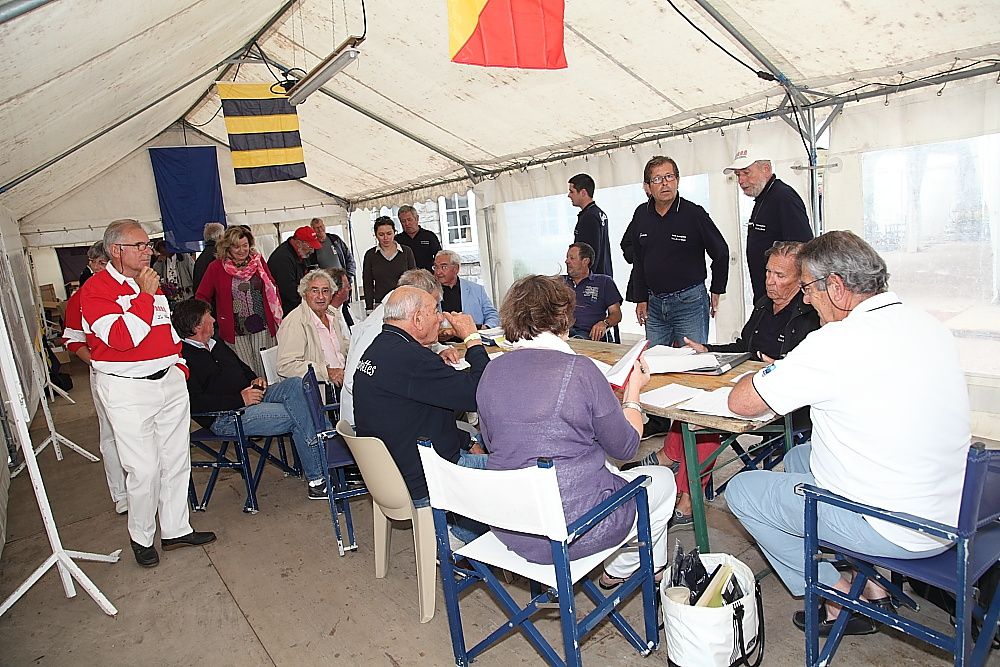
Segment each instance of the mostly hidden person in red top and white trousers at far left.
M90 275L103 271L108 265L108 254L104 251L104 242L98 241L87 249L87 268ZM100 433L101 459L104 461L104 474L108 478L108 490L115 504L115 512L128 512L128 497L125 494L125 471L121 459L118 458L118 447L115 445L115 433L108 421L108 411L104 409L97 395L96 373L90 363L90 349L87 347L87 335L83 333L83 311L80 295L83 290L73 292L66 302L66 327L63 329L63 344L66 349L75 354L80 361L90 367L90 393L94 397L94 411L97 412L97 427Z

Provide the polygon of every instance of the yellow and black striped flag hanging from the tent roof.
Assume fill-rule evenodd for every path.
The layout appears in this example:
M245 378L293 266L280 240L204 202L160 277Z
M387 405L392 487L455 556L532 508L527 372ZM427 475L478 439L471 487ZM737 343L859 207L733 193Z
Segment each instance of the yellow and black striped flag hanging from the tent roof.
M217 81L236 184L290 181L306 175L299 116L266 83Z

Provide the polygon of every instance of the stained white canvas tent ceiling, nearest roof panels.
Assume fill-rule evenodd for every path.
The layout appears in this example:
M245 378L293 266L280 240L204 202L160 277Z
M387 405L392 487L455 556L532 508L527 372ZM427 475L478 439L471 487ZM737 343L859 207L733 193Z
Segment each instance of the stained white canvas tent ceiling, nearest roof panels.
M360 0L17 0L0 4L0 17L25 4L39 6L0 24L9 64L0 204L18 217L178 119L226 142L211 82L233 78L225 61L255 36L272 62L308 70L363 29ZM859 88L868 82L1000 68L1000 0L675 4L740 60L767 69L731 32L742 35L806 90L800 104L877 90ZM456 65L447 35L445 0L368 0L361 58L298 107L307 183L364 201L765 115L785 98L667 2L567 0L565 70ZM259 60L240 65L238 78L274 80Z

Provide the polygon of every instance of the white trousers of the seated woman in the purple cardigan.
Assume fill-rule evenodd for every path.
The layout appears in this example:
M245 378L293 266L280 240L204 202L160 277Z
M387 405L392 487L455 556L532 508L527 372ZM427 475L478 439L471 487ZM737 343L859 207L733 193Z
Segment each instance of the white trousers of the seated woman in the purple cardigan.
M653 570L658 570L667 564L667 524L674 516L674 504L677 502L674 473L664 466L639 466L616 474L630 482L640 475L648 475L652 480L646 487L646 496L649 500L649 532L653 538ZM628 534L630 542L639 535L638 522L639 513L636 512ZM626 548L619 551L604 564L604 569L610 576L624 579L639 569L639 550Z

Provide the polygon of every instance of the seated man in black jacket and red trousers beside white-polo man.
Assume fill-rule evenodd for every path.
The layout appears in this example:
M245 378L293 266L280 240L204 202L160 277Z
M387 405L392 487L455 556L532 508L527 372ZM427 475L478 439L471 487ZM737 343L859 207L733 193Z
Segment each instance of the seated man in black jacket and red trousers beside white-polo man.
M754 305L753 313L735 343L703 345L688 338L687 346L695 352L751 352L754 359L774 361L788 352L812 331L819 329L819 315L803 301L799 289L801 274L798 254L802 244L798 241L779 241L765 252L767 256L767 294ZM796 428L806 428L808 411L795 415ZM698 436L698 459L704 463L719 445L717 436ZM684 442L679 428L674 427L663 441L663 447L642 459L643 465L670 466L677 475L677 508L674 526L692 524L691 493L688 489L687 467L684 463ZM708 485L708 476L702 479L702 488Z

